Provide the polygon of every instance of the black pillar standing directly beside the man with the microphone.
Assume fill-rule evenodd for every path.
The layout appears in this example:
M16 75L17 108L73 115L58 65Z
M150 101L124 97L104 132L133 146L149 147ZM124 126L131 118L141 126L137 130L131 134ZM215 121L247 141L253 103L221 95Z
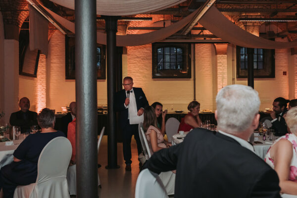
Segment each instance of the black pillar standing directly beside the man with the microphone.
M117 16L104 16L107 48L107 155L106 168L119 168L117 165L116 119L114 100L116 92L116 32Z

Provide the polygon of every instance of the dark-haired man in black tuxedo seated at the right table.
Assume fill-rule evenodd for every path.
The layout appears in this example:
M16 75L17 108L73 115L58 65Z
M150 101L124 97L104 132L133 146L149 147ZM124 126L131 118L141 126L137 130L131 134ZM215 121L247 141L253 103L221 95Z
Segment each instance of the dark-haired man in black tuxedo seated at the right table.
M274 99L272 103L273 111L270 113L270 116L272 118L272 128L275 130L276 136L283 136L288 133L287 123L284 115L288 111L287 103L289 101L290 100L288 99L279 97Z

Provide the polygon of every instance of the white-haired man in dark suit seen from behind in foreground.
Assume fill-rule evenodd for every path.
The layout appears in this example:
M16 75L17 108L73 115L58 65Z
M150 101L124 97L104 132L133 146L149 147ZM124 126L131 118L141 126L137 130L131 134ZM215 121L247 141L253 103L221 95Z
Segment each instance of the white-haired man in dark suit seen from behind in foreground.
M258 93L226 86L216 102L218 132L196 128L183 143L153 153L144 168L176 169L175 198L280 198L276 172L247 142L259 123Z

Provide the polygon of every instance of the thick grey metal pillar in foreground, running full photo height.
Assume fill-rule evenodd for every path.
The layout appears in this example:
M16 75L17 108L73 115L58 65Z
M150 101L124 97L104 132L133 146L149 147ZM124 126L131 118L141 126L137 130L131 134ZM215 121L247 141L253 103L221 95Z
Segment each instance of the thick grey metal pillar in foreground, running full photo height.
M98 197L96 0L75 0L77 198Z

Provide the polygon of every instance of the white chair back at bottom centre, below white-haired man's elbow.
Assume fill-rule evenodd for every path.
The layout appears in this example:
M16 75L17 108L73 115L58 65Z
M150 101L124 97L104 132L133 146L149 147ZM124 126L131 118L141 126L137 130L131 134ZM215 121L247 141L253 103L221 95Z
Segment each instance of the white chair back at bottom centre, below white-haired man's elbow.
M168 198L168 196L159 176L145 169L138 175L135 198Z

